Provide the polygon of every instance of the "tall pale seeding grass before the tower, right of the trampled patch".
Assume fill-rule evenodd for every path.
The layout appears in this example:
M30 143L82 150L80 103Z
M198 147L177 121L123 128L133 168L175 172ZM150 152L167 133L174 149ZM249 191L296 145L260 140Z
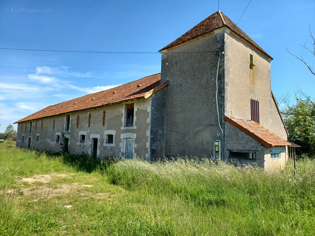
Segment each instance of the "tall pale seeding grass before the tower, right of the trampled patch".
M266 172L208 159L123 160L110 166L107 175L111 183L141 196L178 198L198 215L215 215L214 222L230 225L238 235L277 235L301 228L315 234L314 171L308 160L299 165L299 177L290 169Z

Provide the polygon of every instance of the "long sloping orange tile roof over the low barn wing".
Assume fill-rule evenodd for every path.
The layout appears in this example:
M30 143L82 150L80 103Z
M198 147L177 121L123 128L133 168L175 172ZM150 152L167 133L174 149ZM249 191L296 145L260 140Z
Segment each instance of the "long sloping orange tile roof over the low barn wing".
M161 73L143 77L142 79L123 84L108 90L91 93L80 98L75 98L66 102L48 106L32 115L14 122L19 123L39 119L52 115L59 115L72 111L84 110L92 107L113 104L135 98L141 98L159 85Z

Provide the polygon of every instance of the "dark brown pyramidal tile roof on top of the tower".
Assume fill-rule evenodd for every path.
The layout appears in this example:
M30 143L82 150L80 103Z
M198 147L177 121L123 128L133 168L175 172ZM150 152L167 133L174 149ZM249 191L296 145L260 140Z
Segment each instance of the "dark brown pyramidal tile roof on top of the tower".
M222 14L224 21L222 20L220 13ZM268 53L266 53L261 47L259 47L258 44L255 43L254 40L252 40L247 34L245 34L244 31L242 31L237 25L235 25L232 20L230 20L222 12L220 13L219 11L213 13L212 15L201 21L198 25L194 26L185 34L177 38L175 41L162 48L160 51L176 48L183 43L191 42L198 38L207 36L213 33L215 30L226 26L231 30L231 34L246 42L249 46L256 49L266 58L272 59L272 57Z

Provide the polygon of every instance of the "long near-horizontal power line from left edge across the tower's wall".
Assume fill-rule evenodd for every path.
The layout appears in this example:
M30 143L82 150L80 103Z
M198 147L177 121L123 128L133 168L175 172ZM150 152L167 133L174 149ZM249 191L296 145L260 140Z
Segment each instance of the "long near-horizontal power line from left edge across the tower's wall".
M63 53L129 53L129 54L153 54L159 52L102 52L102 51L68 51L68 50L40 50L40 49L24 49L24 48L0 48L7 50L21 50L21 51L39 51L39 52L63 52ZM216 51L204 52L166 52L166 53L217 53Z

